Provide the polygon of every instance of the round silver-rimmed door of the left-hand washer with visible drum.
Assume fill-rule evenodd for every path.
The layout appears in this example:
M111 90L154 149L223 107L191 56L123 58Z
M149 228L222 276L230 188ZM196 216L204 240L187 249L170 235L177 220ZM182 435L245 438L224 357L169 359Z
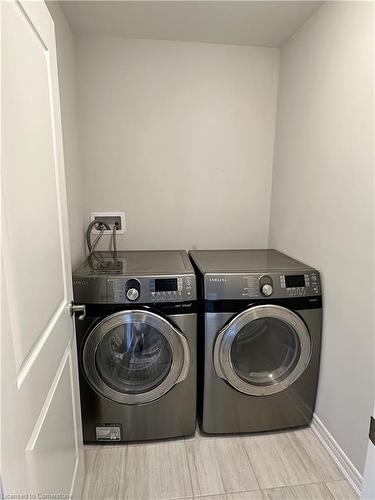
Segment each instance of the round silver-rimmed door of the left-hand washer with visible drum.
M108 316L88 335L83 367L91 386L123 404L160 398L187 376L186 337L150 311L129 310Z

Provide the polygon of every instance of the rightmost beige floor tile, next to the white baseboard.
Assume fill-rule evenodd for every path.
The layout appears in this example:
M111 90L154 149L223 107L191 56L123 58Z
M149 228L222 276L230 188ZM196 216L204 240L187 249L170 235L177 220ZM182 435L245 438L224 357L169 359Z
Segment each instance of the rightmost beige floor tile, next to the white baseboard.
M260 488L343 479L310 429L243 439Z

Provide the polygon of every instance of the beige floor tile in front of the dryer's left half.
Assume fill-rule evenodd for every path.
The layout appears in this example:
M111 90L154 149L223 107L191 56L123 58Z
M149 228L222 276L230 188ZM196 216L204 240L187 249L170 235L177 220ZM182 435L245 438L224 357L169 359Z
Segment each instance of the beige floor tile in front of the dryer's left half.
M187 441L186 448L195 496L259 489L239 438Z

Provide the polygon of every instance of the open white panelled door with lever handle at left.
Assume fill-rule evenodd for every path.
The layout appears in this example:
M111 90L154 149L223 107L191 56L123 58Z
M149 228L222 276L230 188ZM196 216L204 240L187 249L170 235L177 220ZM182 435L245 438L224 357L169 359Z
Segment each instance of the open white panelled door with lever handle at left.
M0 8L3 490L78 499L84 464L54 25L44 2Z

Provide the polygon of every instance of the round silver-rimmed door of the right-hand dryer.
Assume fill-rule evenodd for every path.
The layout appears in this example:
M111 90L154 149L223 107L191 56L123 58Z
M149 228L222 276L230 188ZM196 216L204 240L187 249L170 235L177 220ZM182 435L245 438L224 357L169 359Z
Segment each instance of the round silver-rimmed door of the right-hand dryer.
M309 331L294 312L276 305L255 306L238 314L214 345L217 375L253 396L283 391L310 362Z

